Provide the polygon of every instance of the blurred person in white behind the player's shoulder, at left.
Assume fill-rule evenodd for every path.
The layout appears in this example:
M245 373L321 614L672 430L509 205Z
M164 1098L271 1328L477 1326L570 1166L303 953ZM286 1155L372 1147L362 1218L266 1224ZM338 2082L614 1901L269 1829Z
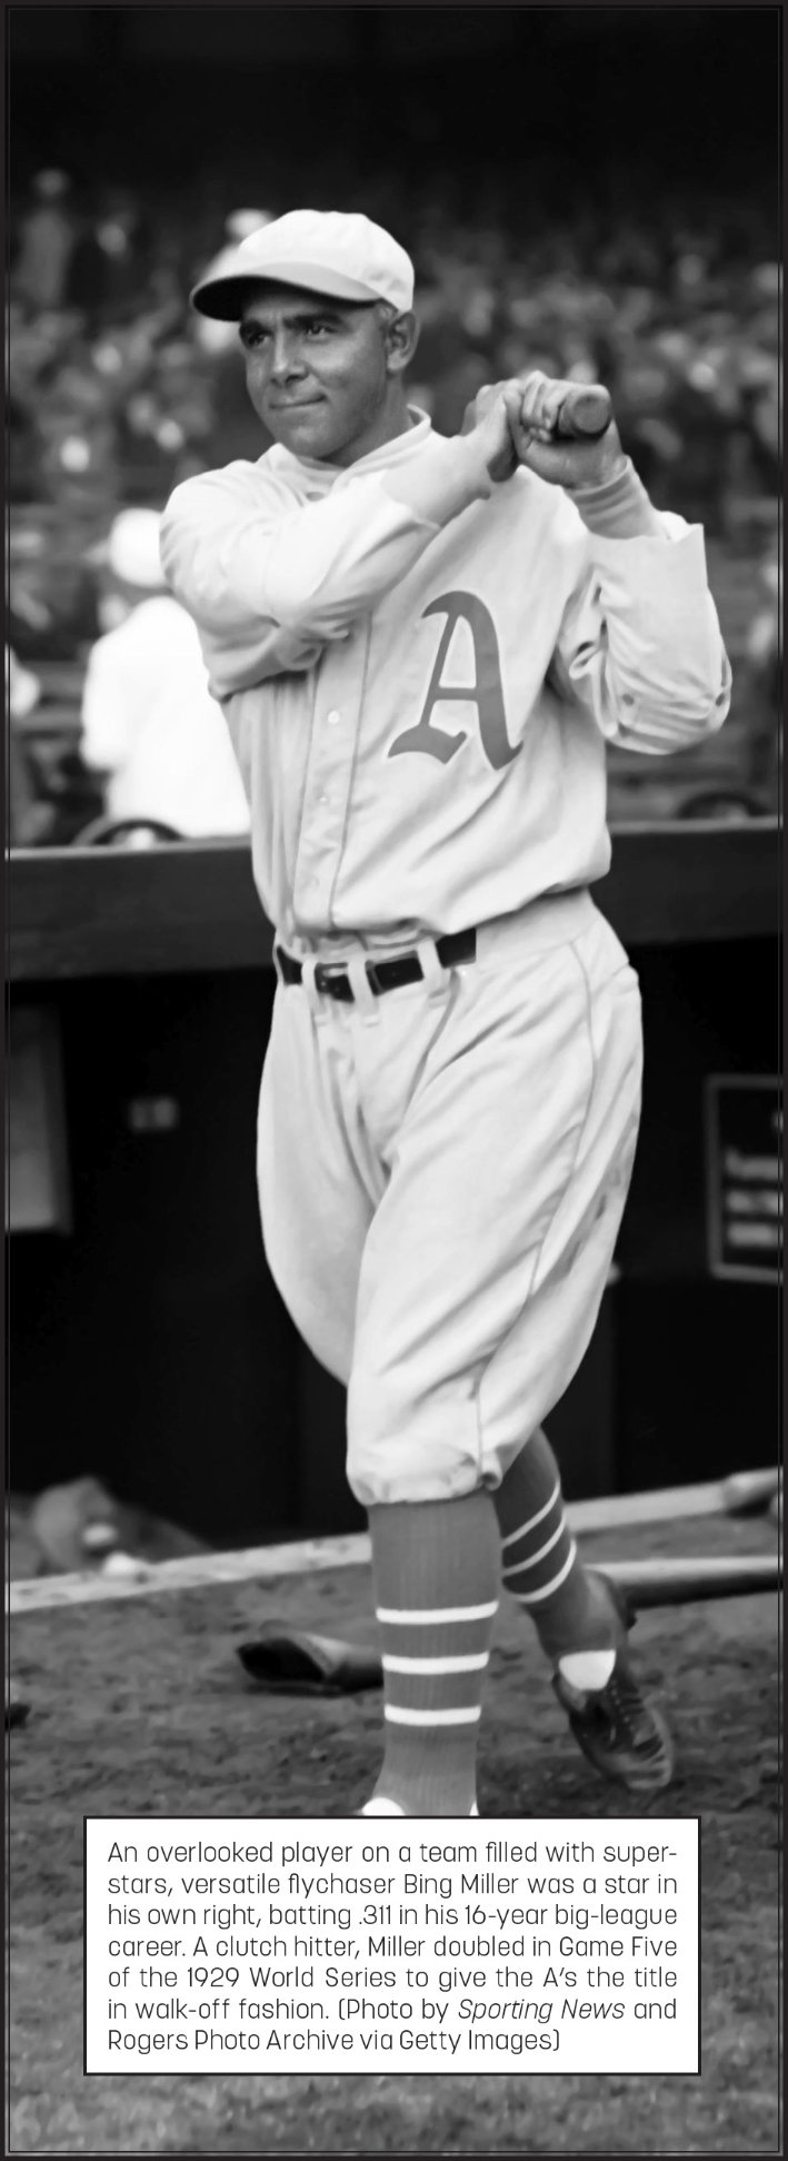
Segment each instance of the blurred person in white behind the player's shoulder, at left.
M123 510L106 547L82 700L82 759L106 774L106 813L188 838L248 832L229 730L207 692L194 625L171 599L155 510Z

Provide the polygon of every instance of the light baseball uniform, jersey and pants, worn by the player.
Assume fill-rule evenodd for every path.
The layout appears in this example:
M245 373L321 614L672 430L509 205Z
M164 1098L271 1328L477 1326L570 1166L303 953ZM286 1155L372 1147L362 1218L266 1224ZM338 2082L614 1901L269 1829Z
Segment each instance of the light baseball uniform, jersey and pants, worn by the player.
M468 473L417 415L345 471L276 445L188 480L162 525L302 966L266 1057L263 1236L348 1381L367 1506L497 1485L587 1348L641 1091L637 977L587 892L604 741L671 752L730 704L697 527L630 469L574 499ZM421 979L376 996L369 962L404 951Z

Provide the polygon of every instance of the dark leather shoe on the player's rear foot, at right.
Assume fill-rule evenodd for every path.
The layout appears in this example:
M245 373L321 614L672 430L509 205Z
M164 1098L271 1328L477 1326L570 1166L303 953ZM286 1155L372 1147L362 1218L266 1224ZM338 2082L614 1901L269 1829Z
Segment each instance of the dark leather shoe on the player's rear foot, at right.
M598 1573L598 1571L594 1571ZM617 1608L622 1632L635 1614L622 1593L600 1578ZM553 1675L555 1694L570 1720L583 1755L602 1779L626 1785L630 1794L658 1794L671 1783L676 1753L665 1718L643 1696L628 1662L626 1634L615 1651L615 1666L604 1688L574 1688L561 1668Z

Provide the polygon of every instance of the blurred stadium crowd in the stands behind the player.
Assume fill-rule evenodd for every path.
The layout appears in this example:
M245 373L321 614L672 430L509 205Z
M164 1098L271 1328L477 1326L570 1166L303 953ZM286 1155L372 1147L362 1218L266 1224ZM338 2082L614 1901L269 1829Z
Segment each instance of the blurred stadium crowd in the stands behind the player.
M706 527L736 666L736 724L721 737L732 746L728 800L743 813L773 808L779 268L769 220L719 192L637 201L622 186L604 210L579 199L544 216L553 199L548 177L540 190L533 173L527 205L488 184L462 207L449 177L419 194L382 175L365 184L363 203L345 190L343 207L389 223L415 255L412 400L438 430L460 428L481 382L529 367L611 387L624 447L654 501ZM153 201L114 186L80 197L58 171L39 173L17 203L9 642L37 683L39 722L47 704L63 717L80 702L80 670L104 627L101 545L119 508L160 508L186 475L266 447L235 331L194 318L188 292L222 246L283 207L227 218L205 194ZM24 780L28 806L13 838L69 841L101 797L73 730L37 730L30 711L28 692L17 808ZM676 784L661 787L665 815Z

